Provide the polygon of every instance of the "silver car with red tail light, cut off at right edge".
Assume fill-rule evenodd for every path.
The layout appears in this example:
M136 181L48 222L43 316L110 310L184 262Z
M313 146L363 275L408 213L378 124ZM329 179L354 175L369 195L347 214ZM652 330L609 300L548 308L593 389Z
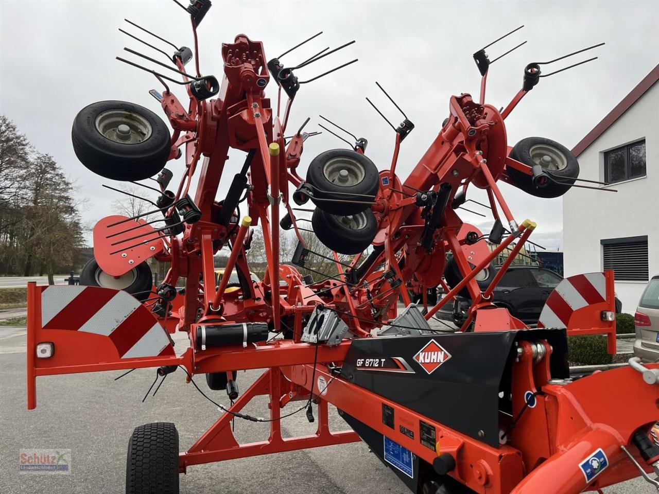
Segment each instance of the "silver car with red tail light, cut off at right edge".
M641 296L634 316L634 356L644 362L659 360L659 275L652 277Z

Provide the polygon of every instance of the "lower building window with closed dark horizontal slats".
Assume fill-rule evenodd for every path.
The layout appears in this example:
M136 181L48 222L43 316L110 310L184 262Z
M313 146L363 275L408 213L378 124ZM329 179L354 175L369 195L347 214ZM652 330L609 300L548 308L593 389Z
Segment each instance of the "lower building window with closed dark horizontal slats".
M604 269L615 271L616 281L648 281L648 236L600 240Z

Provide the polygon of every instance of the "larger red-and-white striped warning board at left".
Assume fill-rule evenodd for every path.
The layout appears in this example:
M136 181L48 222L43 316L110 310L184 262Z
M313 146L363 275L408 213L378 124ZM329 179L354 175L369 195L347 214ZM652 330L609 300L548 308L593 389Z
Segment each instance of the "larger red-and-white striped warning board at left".
M156 316L121 290L45 287L41 313L43 329L66 329L107 337L121 359L174 355L169 335Z

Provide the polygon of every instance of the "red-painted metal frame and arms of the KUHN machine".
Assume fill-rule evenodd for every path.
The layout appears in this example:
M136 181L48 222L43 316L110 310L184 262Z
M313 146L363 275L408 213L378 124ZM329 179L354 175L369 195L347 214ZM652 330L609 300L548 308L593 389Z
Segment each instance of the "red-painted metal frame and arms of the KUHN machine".
M507 146L504 125L504 119L528 90L521 90L500 112L484 103L484 74L480 103L475 103L469 94L449 99L449 118L404 182L395 175L401 134L395 135L391 167L380 173L380 177L387 177L388 180L381 180L380 190L371 205L378 218L374 245L384 248L357 283L349 287L335 279L327 279L305 284L295 267L279 262L281 202L291 213L295 232L304 244L289 204L289 184L297 188L304 182L297 173L304 136L298 132L288 145L284 138L293 97L289 97L280 119L281 86L275 112L270 99L264 94L262 82L258 82L265 80L267 84L270 80L262 43L251 41L241 34L233 43L223 44L221 53L225 76L217 98L200 101L188 86L190 105L187 110L169 90L165 90L161 100L163 111L174 129L170 159L183 155L186 163L175 200L188 193L192 176L204 156L194 195L194 203L201 211L200 220L185 225L182 238L165 238L162 233L154 231L153 236L141 237L140 244L129 250L132 253L143 249L143 246L155 245L157 248L153 252L156 258L171 262L165 283L176 286L177 281L185 277L185 295L179 296L171 306L172 315L160 317L159 321L170 333L188 333L190 348L181 356L121 358L101 341L103 336L83 335L80 331L68 331L65 327L45 328L42 321L42 287L36 287L33 283L28 285L30 409L36 406L38 375L182 366L189 381L190 377L202 373L266 368L263 375L228 408L228 413L222 414L188 451L181 453L179 469L184 473L193 464L358 441L359 437L353 431L329 431L328 403L380 433L391 434L391 430L380 420L381 406L386 400L349 383L328 367L329 362L343 362L351 341L344 340L335 346L302 343L303 317L317 306L328 307L341 314L355 337L370 337L374 328L395 318L399 296L406 305L409 304L407 285L415 280L422 287L440 284L446 291L446 296L428 311L426 319L430 319L443 304L466 287L473 304L460 331L467 330L474 319L477 332L527 329L507 310L494 308L492 290L536 227L529 220L521 224L515 221L497 185L498 180L509 180L506 170L511 167L527 175L532 174L530 167L509 157L511 148ZM181 59L177 59L177 66L179 70L185 70ZM197 73L197 76L200 74ZM184 80L187 80L185 76ZM181 152L179 148L184 145L185 151ZM238 219L229 229L225 229L214 222L214 214L221 207L215 196L229 148L256 150L256 153L250 165L247 195L249 217L242 221ZM432 249L420 247L424 219L420 215L420 207L416 205L416 192L438 192L442 185L449 186L447 202L451 204L455 194L459 190L464 194L470 184L487 191L494 217L498 219L501 211L511 234L492 252L484 246L484 240L478 245L470 245L465 240L465 233L476 231L480 236L480 232L471 225L465 228L455 210L446 207L442 216L443 226L434 234ZM253 284L252 293L241 298L233 292L226 292L228 276L223 277L216 287L214 254L221 245L230 243L231 255L225 272L229 273L238 266L248 273L244 240L250 226L259 222L268 271L264 280ZM119 238L125 240L128 236L125 234ZM514 246L509 248L513 242ZM98 245L95 248L101 265L112 265L117 273L130 269L125 258L103 251ZM509 249L509 257L499 274L488 288L481 290L474 277L506 249ZM101 254L101 251L106 254ZM462 281L451 289L445 286L442 279L447 252L453 254L463 274ZM102 260L99 259L101 255ZM357 266L360 259L361 255L356 256L351 267ZM336 254L335 260L338 276L345 278L344 265ZM390 270L395 275L383 277L383 273ZM609 288L612 288L612 275L608 273L607 276ZM279 280L285 281L285 287L279 286ZM396 285L396 280L402 283ZM277 302L268 303L267 300ZM612 335L615 334L615 322L603 321L601 317L602 312L614 311L611 291L606 302L583 310L568 330L574 334L607 333L610 342L613 338L614 346ZM374 317L374 314L377 316ZM196 332L208 321L268 321L272 323L273 331L279 332L283 328L283 317L293 321L293 339L204 350L196 348L194 343ZM54 345L55 352L50 358L37 358L36 349L43 342ZM85 348L84 352L77 350L81 347ZM612 350L615 351L615 348ZM548 364L551 353L551 346L543 341L522 341L519 345L512 380L515 415L528 406L525 393L542 391L542 394L534 394L537 405L513 424L516 432L507 444L491 447L440 423L433 423L439 431L437 451L422 447L401 434L395 435L395 441L430 464L440 453L451 454L457 460L457 468L449 475L478 493L577 494L584 489L600 489L638 475L636 467L627 461L620 446L629 447L636 429L649 429L657 420L659 387L648 386L631 368L597 373L572 383L552 383ZM659 365L649 368L659 368ZM328 383L325 389L319 389L318 381L313 376L323 377ZM601 393L602 389L607 390L606 396ZM270 422L270 437L260 443L240 445L233 437L230 422L252 398L259 395L270 398L270 417L264 419L264 422ZM304 403L310 397L318 403L316 434L283 439L279 420L287 414L283 414L282 410L295 410L296 402ZM630 402L636 402L637 406L627 408L625 404ZM428 418L401 404L387 402L387 405L395 409L401 424L428 421ZM510 424L511 421L512 418L501 417L502 424ZM411 427L413 430L416 427L418 434L418 425ZM611 468L596 480L587 481L577 466L596 447L605 451ZM640 458L639 454L634 455ZM644 468L648 472L652 470L649 464Z

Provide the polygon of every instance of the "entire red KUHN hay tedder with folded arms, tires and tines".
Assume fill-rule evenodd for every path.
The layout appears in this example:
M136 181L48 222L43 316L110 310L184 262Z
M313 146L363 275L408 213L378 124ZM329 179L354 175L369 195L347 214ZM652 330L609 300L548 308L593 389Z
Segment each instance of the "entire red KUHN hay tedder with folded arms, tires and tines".
M218 405L217 422L183 453L173 424L134 430L127 493L178 493L179 473L190 465L360 439L415 493L577 494L639 475L659 487L647 473L659 472L659 447L648 435L659 419L659 365L632 359L625 368L569 378L567 335L605 333L615 352L612 273L566 279L535 328L492 303L493 288L536 227L515 220L498 180L541 198L580 186L569 150L536 137L510 147L505 119L540 78L564 70L544 74L543 65L585 50L529 64L523 88L498 110L485 102L494 60L481 49L474 54L479 102L451 96L448 117L409 177L396 174L399 146L414 128L403 113L392 125L387 169L378 171L366 140L353 136L350 150L312 159L304 180L297 168L312 134L302 124L285 137L291 105L302 84L336 69L304 81L294 71L351 43L287 67L280 59L292 49L267 61L262 43L239 34L221 47L220 84L198 64L196 28L209 7L209 0L183 7L194 49L173 45L169 55L127 33L169 63L129 53L182 77L120 59L162 82L162 93L150 93L173 135L148 109L121 101L89 105L74 120L74 150L88 169L115 180L157 177L157 185L140 185L158 194L149 213L162 217L101 219L81 286L28 285L28 408L36 406L40 375L150 367L164 378L181 368L187 381L205 374L211 389L225 389L233 405ZM167 84L185 85L189 104ZM268 84L277 88L276 105L265 96ZM229 148L246 159L217 198ZM185 170L170 190L173 173L164 166L179 158ZM494 215L488 234L457 215L469 186L487 192ZM241 217L243 201L248 215ZM319 281L297 269L319 255L307 248L295 217L296 206L309 202L314 232L333 251L337 271ZM252 280L246 261L257 225L268 258L262 281ZM299 244L283 264L280 229L291 228ZM231 254L218 283L214 254L223 246ZM509 256L496 269L492 262L504 250ZM171 263L157 287L146 264L152 257ZM233 270L239 283L229 286ZM183 280L185 288L177 288ZM409 288L425 293L437 285L445 296L434 307L425 296L427 310L411 304ZM428 321L458 293L472 301L464 325L433 329ZM178 356L169 336L175 331L189 337ZM247 369L266 370L239 393L236 371ZM241 412L259 395L270 399L269 417ZM329 431L329 403L352 430ZM318 421L316 434L283 438L279 421L302 410ZM235 418L268 422L270 437L239 444Z

